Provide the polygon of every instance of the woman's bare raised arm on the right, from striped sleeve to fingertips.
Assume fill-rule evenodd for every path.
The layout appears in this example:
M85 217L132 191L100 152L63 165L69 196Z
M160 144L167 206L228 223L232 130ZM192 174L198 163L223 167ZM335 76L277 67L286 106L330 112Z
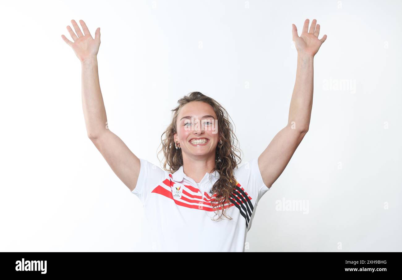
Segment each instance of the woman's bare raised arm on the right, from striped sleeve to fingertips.
M310 126L313 105L313 59L327 37L324 35L318 39L320 25L316 23L317 20L314 19L308 30L309 20L306 19L300 37L297 35L296 26L292 24L293 41L297 49L297 69L288 123L258 157L261 176L269 188L285 170Z

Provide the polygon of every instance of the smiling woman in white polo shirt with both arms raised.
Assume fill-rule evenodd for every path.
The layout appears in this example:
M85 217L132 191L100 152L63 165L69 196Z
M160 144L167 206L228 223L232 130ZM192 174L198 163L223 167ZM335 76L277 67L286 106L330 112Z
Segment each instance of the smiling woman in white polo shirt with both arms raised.
M82 106L88 137L113 172L144 205L146 251L244 251L260 198L282 174L306 135L312 110L313 59L326 35L306 19L300 37L292 25L297 49L296 82L288 124L259 157L238 168L237 139L226 110L201 92L178 100L172 122L162 134L164 170L136 157L107 127L100 92L95 38L83 20L67 26L82 66ZM166 167L168 165L168 168Z

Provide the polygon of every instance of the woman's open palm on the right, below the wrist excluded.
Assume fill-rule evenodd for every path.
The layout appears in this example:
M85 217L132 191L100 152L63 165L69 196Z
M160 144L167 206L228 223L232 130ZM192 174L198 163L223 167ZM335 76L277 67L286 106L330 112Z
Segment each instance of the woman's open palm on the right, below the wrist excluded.
M317 20L313 19L310 31L308 31L309 22L309 19L304 21L303 31L300 37L297 35L296 25L292 24L292 38L298 53L306 53L314 56L318 52L318 49L320 49L321 44L325 42L327 36L324 35L321 39L318 39L320 25L316 24Z

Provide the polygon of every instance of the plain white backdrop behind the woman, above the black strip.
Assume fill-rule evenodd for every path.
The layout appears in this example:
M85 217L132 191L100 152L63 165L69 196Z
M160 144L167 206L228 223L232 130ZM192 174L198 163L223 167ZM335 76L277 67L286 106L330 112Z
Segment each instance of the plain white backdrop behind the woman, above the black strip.
M87 138L70 20L100 27L109 129L158 164L179 98L200 91L236 125L243 164L286 124L306 18L310 130L258 204L246 251L401 251L400 1L2 1L0 251L135 251L142 206ZM329 80L352 80L335 90ZM304 200L277 211L277 200Z

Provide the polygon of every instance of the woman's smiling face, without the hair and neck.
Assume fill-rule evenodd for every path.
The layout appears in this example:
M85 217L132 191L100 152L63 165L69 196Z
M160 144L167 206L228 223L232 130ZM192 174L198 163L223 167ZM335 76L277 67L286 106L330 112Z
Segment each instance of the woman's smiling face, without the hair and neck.
M180 143L186 155L215 156L219 142L217 116L212 106L192 101L178 112L174 142ZM194 140L199 139L194 142ZM183 155L184 156L184 155Z

